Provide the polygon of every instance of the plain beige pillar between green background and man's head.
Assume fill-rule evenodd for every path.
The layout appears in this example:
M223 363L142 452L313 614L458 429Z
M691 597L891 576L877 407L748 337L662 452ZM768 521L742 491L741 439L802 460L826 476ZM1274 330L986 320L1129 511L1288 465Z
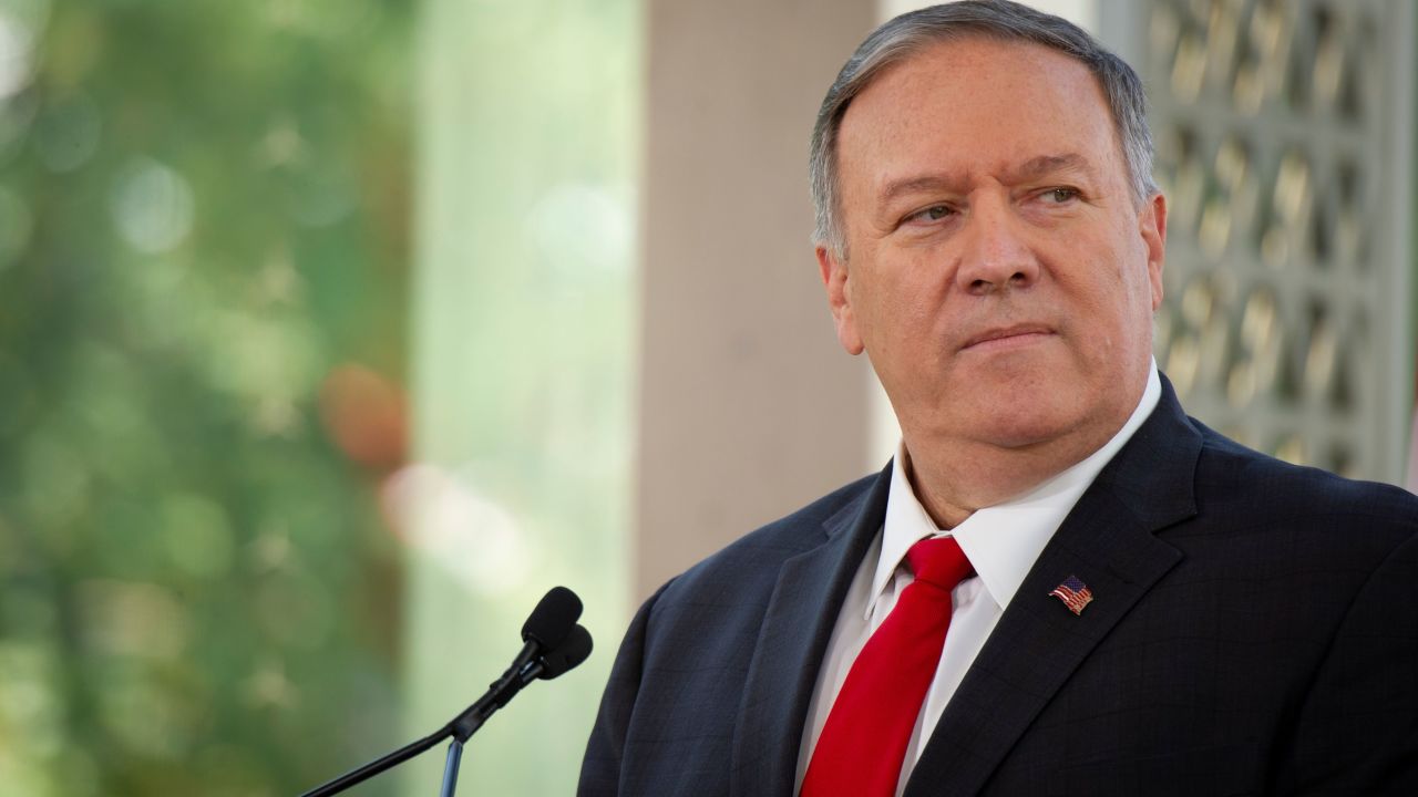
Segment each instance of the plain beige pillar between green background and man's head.
M635 598L865 472L808 245L817 105L871 0L648 6Z

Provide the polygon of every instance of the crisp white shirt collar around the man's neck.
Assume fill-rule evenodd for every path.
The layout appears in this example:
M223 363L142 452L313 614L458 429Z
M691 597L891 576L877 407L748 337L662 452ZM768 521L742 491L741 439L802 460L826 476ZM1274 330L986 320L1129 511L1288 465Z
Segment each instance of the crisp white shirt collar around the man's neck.
M1048 545L1064 518L1078 503L1083 491L1127 444L1137 427L1157 407L1160 398L1161 379L1157 376L1157 360L1154 359L1149 367L1147 387L1143 390L1137 407L1133 408L1133 414L1129 416L1123 428L1117 430L1117 434L1102 448L1029 492L976 511L951 529L949 536L954 536L960 542L960 549L964 550L970 564L984 581L990 597L1001 610L1014 598L1014 593L1020 590L1020 584L1024 583L1034 560L1044 552L1044 546ZM910 479L906 478L903 462L906 462L905 440L896 448L896 467L892 468L882 550L876 560L876 574L872 579L872 600L868 601L868 613L886 590L886 584L900 567L910 546L922 539L943 535L916 498Z

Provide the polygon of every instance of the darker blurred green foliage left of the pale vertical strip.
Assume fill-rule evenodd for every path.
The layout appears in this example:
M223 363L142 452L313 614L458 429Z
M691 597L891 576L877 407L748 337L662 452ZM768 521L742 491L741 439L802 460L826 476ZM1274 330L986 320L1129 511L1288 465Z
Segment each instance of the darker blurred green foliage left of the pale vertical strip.
M398 742L411 17L0 0L4 793L289 794Z

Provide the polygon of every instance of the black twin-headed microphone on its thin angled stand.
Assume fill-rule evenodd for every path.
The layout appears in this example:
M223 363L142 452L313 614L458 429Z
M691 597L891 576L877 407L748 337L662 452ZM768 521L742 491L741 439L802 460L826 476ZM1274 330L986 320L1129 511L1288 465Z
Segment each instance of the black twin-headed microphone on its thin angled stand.
M301 797L329 797L339 794L356 783L363 783L376 774L400 764L438 742L452 737L448 745L448 759L444 764L444 797L452 797L458 780L458 760L462 745L498 709L508 705L527 684L536 679L550 681L574 669L591 655L591 634L577 620L581 617L581 598L566 587L552 587L522 624L522 650L501 678L475 703L464 709L451 722L406 745L381 759L376 759L353 771L318 786Z

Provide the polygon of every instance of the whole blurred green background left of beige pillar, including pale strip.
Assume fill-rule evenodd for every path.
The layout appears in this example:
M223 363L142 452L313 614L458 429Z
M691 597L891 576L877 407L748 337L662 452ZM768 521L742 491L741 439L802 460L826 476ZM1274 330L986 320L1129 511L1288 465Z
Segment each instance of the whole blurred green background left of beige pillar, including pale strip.
M627 606L638 13L0 0L0 793L303 791L472 702L556 583L601 650L462 790L573 788Z

